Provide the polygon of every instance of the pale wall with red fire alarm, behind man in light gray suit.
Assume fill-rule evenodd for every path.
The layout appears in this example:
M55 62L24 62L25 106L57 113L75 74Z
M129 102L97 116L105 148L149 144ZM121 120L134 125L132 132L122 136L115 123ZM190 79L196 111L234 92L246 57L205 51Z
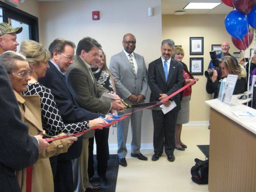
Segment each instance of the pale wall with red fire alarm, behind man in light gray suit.
M148 17L148 7L154 9L152 17ZM100 11L100 20L92 20L92 11ZM124 34L131 32L136 36L135 52L144 56L148 65L160 57L161 19L161 0L40 2L40 42L48 47L55 38L64 37L77 44L84 36L91 36L102 45L109 64L110 57L122 51ZM152 143L151 111L144 112L142 122L142 143ZM109 143L116 144L116 128L113 135L112 131Z

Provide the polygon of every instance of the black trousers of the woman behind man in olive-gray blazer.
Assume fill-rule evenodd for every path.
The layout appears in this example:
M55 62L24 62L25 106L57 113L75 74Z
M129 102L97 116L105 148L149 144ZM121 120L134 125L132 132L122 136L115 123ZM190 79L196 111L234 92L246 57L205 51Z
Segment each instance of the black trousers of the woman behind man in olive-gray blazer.
M108 133L109 128L103 128L102 130L95 130L96 140L96 152L97 152L97 173L99 176L106 176L108 159L109 159L109 148L108 148ZM91 178L94 176L94 160L93 160L93 144L94 137L89 138L89 158L88 158L88 176Z

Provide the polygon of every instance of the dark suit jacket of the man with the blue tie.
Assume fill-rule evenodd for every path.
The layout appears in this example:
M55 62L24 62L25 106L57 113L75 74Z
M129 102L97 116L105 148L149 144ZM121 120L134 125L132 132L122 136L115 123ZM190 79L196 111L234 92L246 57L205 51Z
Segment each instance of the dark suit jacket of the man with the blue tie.
M167 82L165 81L164 67L161 57L148 65L148 84L151 89L150 102L159 101L158 98L162 93L165 93L168 96L171 95L182 88L183 83L183 65L180 62L171 59ZM176 94L171 100L174 100L177 105L172 109L172 112L179 111L180 94Z

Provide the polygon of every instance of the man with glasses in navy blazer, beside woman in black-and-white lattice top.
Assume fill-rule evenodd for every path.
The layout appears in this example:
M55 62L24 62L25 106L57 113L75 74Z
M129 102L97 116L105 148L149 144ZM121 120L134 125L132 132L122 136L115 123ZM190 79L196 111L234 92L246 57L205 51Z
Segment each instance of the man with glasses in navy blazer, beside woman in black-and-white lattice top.
M101 114L79 107L76 93L64 76L68 66L73 64L75 47L75 44L69 40L62 38L54 40L49 46L52 57L48 62L50 68L46 75L39 79L41 84L51 89L63 122L67 124L92 120L101 116ZM50 158L55 192L73 192L76 188L73 186L72 160L80 156L81 149L82 136L72 144L67 153ZM92 186L92 188L95 190L100 186Z

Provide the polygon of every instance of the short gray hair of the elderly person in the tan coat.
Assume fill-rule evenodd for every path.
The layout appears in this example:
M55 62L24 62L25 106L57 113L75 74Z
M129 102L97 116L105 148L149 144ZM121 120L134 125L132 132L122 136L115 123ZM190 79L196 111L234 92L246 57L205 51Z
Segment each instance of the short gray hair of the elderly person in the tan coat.
M27 61L24 55L14 51L7 51L0 55L0 65L2 65L7 73L12 72L16 67L16 60Z

